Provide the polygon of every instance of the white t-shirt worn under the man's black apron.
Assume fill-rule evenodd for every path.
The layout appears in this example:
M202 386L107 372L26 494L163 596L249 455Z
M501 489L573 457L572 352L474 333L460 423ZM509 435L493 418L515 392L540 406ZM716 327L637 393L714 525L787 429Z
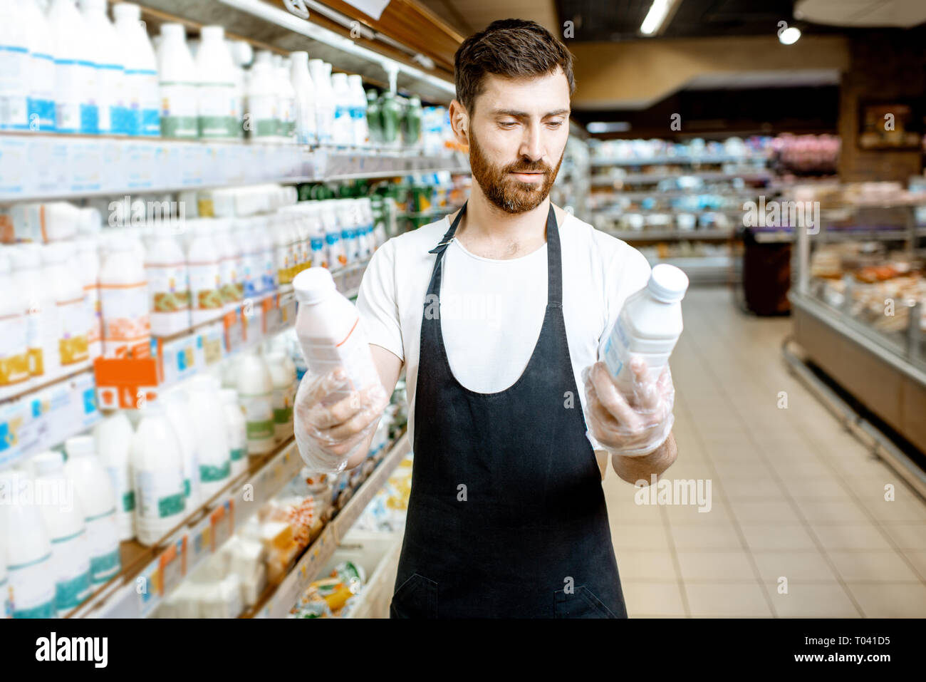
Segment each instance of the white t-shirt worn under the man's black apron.
M449 228L444 217L390 239L373 254L357 297L369 343L405 362L409 437L414 436L421 316L435 258L428 252ZM644 287L650 267L632 246L569 214L559 226L559 242L563 319L578 398L585 410L582 370L598 360L601 339L617 319L624 299ZM454 376L469 390L504 391L527 367L544 322L546 251L544 244L521 258L485 259L469 253L457 239L444 251L440 291L444 347Z

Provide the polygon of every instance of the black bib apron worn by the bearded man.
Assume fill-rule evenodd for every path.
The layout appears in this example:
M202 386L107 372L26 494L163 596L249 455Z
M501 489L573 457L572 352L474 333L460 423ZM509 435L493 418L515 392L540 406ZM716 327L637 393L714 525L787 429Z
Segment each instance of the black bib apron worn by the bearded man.
M559 228L546 220L549 286L524 373L498 393L457 382L439 315L444 250L421 320L411 496L393 618L627 616L601 470L585 436L562 307Z

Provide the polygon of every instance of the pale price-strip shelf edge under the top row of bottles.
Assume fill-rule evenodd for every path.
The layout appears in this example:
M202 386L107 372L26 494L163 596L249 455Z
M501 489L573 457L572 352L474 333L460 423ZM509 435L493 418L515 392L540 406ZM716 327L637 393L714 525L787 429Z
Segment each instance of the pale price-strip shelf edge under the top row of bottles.
M0 133L0 203L438 171L467 173L469 166L456 153L426 157L372 147Z

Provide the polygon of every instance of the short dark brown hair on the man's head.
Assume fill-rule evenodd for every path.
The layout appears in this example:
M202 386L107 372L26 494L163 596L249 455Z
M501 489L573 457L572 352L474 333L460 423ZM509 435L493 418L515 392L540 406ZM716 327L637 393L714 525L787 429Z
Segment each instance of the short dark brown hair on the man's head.
M566 74L572 95L576 85L572 55L566 45L536 21L499 19L470 35L457 49L454 57L457 100L472 113L486 73L519 78L552 73L557 67Z

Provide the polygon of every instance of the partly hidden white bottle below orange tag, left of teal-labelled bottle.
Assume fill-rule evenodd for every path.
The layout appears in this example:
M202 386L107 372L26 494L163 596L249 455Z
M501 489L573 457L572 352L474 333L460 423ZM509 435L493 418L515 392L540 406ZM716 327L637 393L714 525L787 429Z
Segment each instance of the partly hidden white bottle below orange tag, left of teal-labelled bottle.
M133 434L131 422L122 411L113 413L94 426L94 446L116 496L119 540L135 537L135 489L131 475Z

